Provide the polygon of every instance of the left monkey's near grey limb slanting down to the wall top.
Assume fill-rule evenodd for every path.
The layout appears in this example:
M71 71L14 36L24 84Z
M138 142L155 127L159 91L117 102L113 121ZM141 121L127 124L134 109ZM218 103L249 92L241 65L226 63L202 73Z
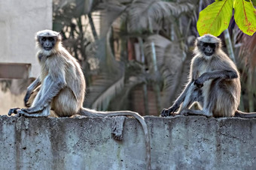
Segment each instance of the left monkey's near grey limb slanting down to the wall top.
M41 99L38 100L33 107L30 107L29 109L22 109L24 112L40 112L45 107L49 106L50 101L53 100L53 97L59 94L59 91L66 86L65 76L59 75L56 77L58 79L55 78L55 81L53 80L54 78L52 78L50 75L44 79L44 84L42 87L43 89L41 89L43 91L41 94Z

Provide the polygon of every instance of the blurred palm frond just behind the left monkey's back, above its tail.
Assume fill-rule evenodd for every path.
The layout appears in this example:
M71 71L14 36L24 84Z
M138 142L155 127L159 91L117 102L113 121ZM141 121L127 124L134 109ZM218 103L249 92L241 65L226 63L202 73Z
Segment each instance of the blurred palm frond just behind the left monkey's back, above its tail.
M105 39L105 56L102 56L102 73L88 88L84 106L92 109L106 110L111 99L123 89L124 69L117 62L111 51L109 42L111 31L108 31ZM102 40L101 40L102 41Z

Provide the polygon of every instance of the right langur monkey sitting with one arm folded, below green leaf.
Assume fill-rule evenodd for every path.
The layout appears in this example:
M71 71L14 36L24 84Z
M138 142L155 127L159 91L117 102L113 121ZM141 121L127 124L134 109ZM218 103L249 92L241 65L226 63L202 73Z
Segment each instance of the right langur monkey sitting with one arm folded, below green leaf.
M162 117L205 115L207 117L256 118L256 113L238 111L241 85L236 65L221 49L221 40L211 34L198 37L190 65L188 83ZM197 103L200 110L190 107Z

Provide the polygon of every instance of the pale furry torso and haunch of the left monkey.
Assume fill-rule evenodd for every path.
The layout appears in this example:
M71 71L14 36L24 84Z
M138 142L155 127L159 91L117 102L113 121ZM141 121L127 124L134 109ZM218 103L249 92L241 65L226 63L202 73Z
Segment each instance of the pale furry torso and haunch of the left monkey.
M41 82L44 85L44 80L47 76L53 82L58 82L59 79L65 82L65 87L53 97L51 101L51 109L58 112L59 115L74 115L81 109L82 101L84 100L85 81L81 68L77 61L72 56L64 54L54 55L38 55L40 56L41 65ZM42 87L46 88L46 87ZM72 107L64 107L66 103L72 103Z

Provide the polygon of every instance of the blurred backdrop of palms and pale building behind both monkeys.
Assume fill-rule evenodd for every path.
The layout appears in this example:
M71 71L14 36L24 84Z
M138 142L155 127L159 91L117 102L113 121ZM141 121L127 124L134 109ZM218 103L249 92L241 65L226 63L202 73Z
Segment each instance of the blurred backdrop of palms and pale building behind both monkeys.
M197 19L213 1L0 0L0 109L24 107L26 87L39 75L35 32L53 29L79 61L87 82L84 107L160 115L187 82ZM239 109L256 107L256 35L231 19L227 54L241 74ZM227 45L227 43L231 43ZM229 54L231 55L231 54Z

